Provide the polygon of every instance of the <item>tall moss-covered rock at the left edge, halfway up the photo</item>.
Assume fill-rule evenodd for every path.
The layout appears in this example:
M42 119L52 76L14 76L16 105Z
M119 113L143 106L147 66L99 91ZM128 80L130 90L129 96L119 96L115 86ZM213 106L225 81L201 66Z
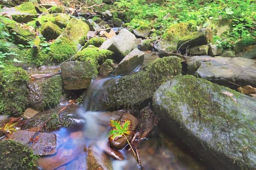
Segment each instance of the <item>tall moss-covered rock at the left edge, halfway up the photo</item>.
M28 104L29 76L22 68L11 65L0 71L0 113L20 115Z

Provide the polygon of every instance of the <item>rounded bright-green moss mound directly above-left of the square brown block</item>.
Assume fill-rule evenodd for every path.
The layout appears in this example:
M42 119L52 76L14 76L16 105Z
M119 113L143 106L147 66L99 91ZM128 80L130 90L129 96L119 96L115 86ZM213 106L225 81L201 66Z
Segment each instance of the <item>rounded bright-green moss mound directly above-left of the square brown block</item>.
M66 59L71 58L77 51L75 42L70 41L66 37L55 40L50 48L50 56L58 62L64 62Z

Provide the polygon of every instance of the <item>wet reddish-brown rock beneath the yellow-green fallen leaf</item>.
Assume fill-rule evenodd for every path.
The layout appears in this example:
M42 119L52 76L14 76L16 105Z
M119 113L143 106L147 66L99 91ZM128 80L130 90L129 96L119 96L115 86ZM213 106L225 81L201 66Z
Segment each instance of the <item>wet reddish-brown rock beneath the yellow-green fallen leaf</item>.
M131 121L131 130L134 131L138 125L137 119L134 116L132 116L130 113L123 114L120 121L122 122L125 119L128 119ZM126 138L130 142L132 139L132 135L126 135ZM108 142L113 149L117 149L117 150L121 150L128 144L127 140L125 139L125 136L119 136L117 138L114 138L113 140L111 138L108 138Z

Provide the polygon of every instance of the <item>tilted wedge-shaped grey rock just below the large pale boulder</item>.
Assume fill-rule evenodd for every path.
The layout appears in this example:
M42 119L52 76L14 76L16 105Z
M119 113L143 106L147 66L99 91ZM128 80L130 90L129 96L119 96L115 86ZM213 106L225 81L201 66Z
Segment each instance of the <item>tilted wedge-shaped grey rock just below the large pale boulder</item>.
M115 76L130 73L139 65L142 65L143 62L144 53L135 48L117 65Z

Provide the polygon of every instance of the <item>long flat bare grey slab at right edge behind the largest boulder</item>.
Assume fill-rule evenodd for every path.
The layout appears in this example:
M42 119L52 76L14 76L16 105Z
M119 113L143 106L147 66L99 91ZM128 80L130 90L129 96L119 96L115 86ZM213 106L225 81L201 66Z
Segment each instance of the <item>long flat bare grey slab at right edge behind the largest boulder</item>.
M196 76L219 85L238 88L238 85L256 85L256 63L253 59L232 57L193 57L201 61Z

